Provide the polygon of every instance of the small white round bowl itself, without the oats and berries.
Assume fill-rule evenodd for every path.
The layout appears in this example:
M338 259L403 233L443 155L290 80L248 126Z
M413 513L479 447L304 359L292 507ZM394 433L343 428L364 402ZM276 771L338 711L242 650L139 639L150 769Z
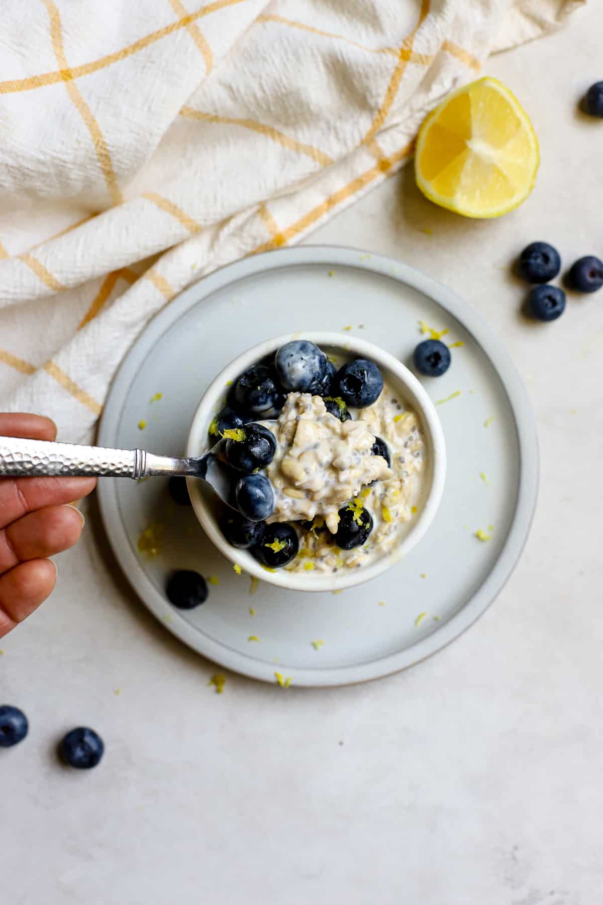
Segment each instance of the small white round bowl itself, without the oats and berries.
M223 553L231 563L238 565L248 575L256 576L261 581L270 585L286 587L292 591L335 591L344 587L361 585L371 578L382 575L386 569L399 562L400 559L415 546L423 537L431 524L444 490L444 478L446 475L446 447L444 433L439 423L438 414L429 399L429 396L419 384L417 378L410 373L408 367L404 367L396 358L388 352L384 352L378 346L363 339L348 337L341 333L326 332L299 332L290 333L274 339L267 339L244 352L238 358L231 361L228 367L213 380L212 384L203 394L191 424L191 430L186 444L186 455L200 455L207 449L207 432L215 414L224 405L228 387L237 379L243 371L271 353L275 353L291 339L309 339L316 346L324 348L327 352L343 353L346 356L368 358L382 371L383 378L400 392L400 395L414 409L419 417L426 444L426 458L428 462L425 474L425 489L419 512L419 518L410 528L408 534L400 540L400 544L390 553L380 557L370 566L356 569L339 569L334 573L318 571L288 572L281 568L275 572L269 572L259 565L259 562L251 556L249 550L241 550L231 547L221 533L218 523L218 515L223 510L220 500L208 488L203 481L188 478L188 490L193 502L193 509L207 536L212 543Z

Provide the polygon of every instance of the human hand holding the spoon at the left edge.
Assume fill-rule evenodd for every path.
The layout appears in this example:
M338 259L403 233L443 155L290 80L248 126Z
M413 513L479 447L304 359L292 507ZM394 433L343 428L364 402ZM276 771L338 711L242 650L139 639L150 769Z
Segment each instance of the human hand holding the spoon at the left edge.
M50 418L0 414L0 436L55 440ZM84 519L73 506L94 490L96 478L0 479L0 638L52 592L55 553L80 539Z

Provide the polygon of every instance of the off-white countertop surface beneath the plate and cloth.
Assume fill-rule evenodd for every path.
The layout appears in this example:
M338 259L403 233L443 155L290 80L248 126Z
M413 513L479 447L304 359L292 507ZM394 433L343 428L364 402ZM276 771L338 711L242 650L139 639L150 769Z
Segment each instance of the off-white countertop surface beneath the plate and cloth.
M52 599L1 646L0 702L30 737L0 757L6 905L593 905L601 900L603 291L531 325L508 266L544 239L603 254L603 9L485 71L529 111L542 167L514 214L430 205L411 167L313 243L399 257L504 336L532 396L540 502L512 579L457 642L388 679L287 692L215 672L147 614L96 504ZM422 232L429 228L431 234ZM115 691L120 693L116 695ZM88 724L101 766L52 746Z

